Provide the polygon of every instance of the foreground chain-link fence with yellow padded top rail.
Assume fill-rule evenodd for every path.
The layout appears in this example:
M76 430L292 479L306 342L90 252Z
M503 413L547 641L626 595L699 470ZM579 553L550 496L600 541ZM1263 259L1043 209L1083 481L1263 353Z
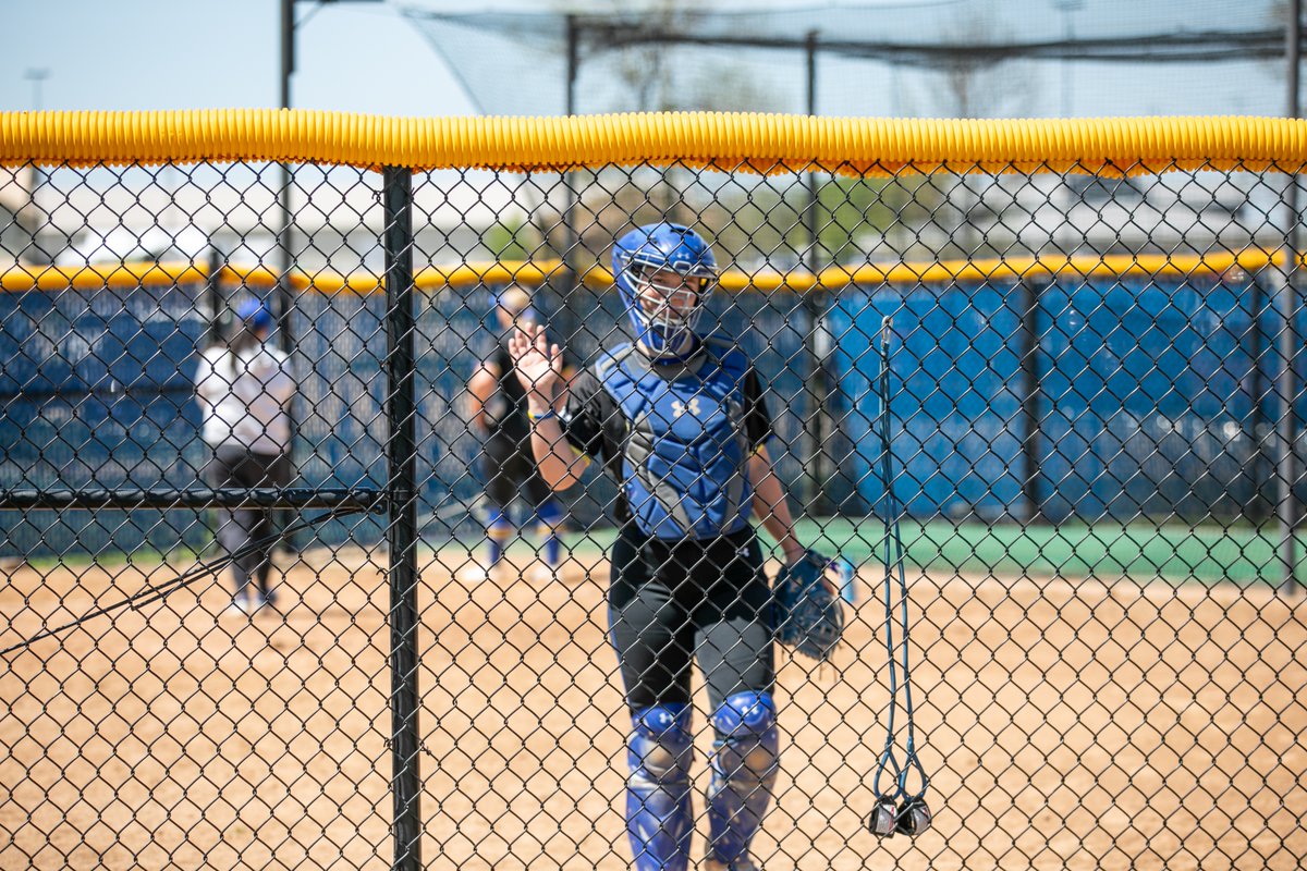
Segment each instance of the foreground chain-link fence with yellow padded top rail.
M0 867L1300 867L1304 161L0 115Z

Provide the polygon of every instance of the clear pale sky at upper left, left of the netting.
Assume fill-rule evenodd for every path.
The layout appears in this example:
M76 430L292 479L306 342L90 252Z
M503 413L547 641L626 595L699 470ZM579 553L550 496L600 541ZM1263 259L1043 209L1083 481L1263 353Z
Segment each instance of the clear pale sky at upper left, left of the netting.
M433 5L433 4L427 4ZM439 4L457 9L478 4ZM468 115L427 42L384 3L297 3L291 106ZM0 111L265 108L278 104L277 0L0 0ZM25 38L14 38L26 34Z

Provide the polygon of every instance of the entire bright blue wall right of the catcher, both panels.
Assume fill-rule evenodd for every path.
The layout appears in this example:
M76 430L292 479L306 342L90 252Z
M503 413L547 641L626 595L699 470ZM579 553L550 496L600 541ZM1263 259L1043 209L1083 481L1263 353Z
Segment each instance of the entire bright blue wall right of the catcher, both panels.
M850 474L868 505L882 498L872 342L891 316L895 495L910 515L1265 516L1270 470L1257 441L1278 405L1268 390L1281 330L1266 303L1261 334L1253 329L1248 279L1077 278L1038 287L1034 299L1038 389L1029 411L1038 467L1023 491L1031 430L1022 407L1022 290L983 283L839 295L830 313L839 413L856 445ZM1307 411L1300 389L1295 405Z

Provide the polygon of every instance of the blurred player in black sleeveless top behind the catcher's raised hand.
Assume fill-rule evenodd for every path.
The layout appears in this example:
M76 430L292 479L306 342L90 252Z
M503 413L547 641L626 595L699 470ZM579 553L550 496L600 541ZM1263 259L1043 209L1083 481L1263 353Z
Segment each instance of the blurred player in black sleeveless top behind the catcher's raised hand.
M521 495L536 518L541 537L540 559L545 571L554 573L562 562L558 534L563 508L536 471L536 460L531 453L531 423L527 420L527 394L514 372L507 346L515 328L538 324L540 319L531 307L531 294L516 285L503 289L495 298L494 319L499 328L499 342L468 383L472 426L482 436L481 462L488 501L488 542L482 569L488 576L503 571L505 548L516 533L511 508Z

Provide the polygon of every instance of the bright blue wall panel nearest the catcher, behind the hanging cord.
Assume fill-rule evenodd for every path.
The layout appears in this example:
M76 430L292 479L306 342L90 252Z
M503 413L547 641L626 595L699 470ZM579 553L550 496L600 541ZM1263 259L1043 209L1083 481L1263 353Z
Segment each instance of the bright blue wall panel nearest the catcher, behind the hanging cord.
M921 289L852 290L829 315L842 428L842 464L867 505L881 484L880 336L893 319L890 437L895 496L918 516L999 516L1021 496L1021 355L1012 294Z

